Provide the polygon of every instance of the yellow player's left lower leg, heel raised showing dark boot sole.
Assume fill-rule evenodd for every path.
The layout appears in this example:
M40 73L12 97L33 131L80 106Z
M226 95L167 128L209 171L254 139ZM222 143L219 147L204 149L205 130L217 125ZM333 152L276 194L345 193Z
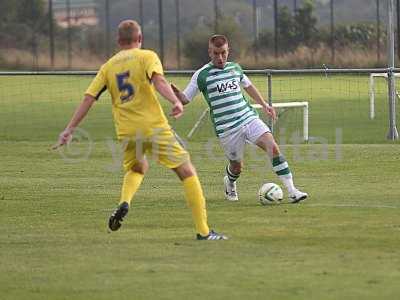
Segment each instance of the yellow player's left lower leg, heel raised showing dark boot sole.
M110 228L111 231L116 231L121 227L121 222L128 214L130 203L139 189L147 169L148 163L146 160L143 160L140 163L136 163L131 170L126 172L122 184L120 202L108 219L108 228Z

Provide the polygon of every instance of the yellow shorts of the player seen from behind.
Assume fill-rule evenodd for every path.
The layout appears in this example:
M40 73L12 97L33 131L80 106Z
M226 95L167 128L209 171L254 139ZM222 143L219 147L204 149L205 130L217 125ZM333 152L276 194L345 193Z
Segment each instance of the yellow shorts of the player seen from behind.
M159 164L174 169L189 160L189 153L178 142L171 129L162 129L151 136L123 139L124 169L130 170L144 157L151 157Z

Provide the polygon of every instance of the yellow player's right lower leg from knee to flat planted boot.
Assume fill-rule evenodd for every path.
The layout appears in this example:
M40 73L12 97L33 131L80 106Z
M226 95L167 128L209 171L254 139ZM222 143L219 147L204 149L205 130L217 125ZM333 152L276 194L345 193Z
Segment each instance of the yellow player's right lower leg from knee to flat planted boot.
M182 180L185 198L192 210L198 240L227 240L223 234L210 230L207 224L206 200L196 171L190 162L185 162L173 169Z

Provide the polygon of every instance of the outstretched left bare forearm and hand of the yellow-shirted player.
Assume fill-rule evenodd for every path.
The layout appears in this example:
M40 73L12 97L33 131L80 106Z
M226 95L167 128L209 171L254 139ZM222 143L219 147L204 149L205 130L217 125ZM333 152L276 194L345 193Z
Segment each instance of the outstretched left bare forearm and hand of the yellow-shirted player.
M75 128L78 127L79 123L85 118L85 116L87 115L88 111L90 110L95 101L96 99L93 96L88 94L85 95L83 101L75 110L75 113L71 118L71 121L69 121L64 131L60 133L58 137L58 142L53 146L53 149L57 149L58 147L67 144L71 140Z

